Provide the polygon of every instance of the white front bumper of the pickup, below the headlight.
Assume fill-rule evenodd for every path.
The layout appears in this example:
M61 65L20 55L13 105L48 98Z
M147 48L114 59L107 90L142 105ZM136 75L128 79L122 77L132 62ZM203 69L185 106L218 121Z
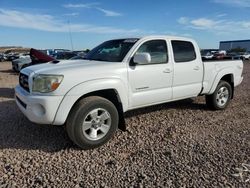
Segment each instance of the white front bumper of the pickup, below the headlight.
M30 95L19 85L15 88L15 101L22 113L38 124L53 124L63 96Z

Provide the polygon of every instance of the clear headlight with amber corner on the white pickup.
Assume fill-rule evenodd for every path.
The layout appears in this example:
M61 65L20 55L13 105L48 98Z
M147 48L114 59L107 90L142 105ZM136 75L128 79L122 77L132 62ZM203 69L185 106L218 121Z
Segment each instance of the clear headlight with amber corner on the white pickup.
M39 74L33 78L33 92L49 93L55 91L63 80L63 75Z

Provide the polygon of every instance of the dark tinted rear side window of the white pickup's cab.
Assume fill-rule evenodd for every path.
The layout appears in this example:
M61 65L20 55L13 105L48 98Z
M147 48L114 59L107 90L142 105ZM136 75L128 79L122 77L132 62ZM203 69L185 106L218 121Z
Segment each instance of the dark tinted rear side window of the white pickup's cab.
M196 59L195 48L192 42L172 40L171 44L176 63L190 62Z

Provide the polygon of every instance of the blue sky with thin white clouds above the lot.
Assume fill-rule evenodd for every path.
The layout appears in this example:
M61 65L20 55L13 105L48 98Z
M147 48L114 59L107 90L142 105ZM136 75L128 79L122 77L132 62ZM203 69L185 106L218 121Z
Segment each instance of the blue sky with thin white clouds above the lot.
M147 35L201 48L250 39L250 0L0 0L0 46L81 50Z

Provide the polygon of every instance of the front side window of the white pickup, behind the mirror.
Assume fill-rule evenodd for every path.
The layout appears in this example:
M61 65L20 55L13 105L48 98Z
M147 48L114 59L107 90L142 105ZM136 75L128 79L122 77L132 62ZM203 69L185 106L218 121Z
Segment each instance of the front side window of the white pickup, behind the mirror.
M136 53L149 53L151 56L150 64L168 62L168 50L165 40L151 40L143 43Z

